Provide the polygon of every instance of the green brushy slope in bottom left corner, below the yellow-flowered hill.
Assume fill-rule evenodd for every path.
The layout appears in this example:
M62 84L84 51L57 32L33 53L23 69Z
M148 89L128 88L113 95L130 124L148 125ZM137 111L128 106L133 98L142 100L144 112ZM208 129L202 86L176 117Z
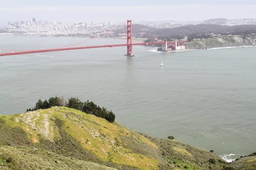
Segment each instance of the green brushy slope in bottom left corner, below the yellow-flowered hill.
M1 170L117 170L29 147L0 147Z

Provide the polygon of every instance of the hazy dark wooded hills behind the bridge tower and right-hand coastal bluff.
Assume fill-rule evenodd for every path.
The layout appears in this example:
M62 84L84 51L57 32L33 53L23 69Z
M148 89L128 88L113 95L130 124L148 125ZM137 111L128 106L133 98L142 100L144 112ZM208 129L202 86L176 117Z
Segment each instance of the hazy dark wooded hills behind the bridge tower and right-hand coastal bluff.
M133 36L149 39L183 39L187 37L188 40L196 38L209 38L210 34L221 35L244 35L244 34L256 34L256 25L218 25L224 22L226 19L210 19L203 21L201 24L185 25L174 28L154 28L141 24L133 25ZM116 31L117 34L126 34L126 27Z

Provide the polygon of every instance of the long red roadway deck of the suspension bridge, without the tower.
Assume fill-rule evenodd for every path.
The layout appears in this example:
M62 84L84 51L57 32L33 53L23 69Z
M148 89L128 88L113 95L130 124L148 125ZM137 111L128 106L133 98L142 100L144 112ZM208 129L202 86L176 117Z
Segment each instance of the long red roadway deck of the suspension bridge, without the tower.
M167 43L173 43L173 42L167 42ZM95 49L95 48L106 48L106 47L139 46L139 45L155 45L155 44L165 44L165 41L148 42L148 43L112 44L112 45L99 45L99 46L66 47L66 48L55 48L55 49L41 49L41 50L29 50L29 51L4 52L4 53L0 53L0 56L39 53L39 52L51 52L51 51L82 50L82 49Z

